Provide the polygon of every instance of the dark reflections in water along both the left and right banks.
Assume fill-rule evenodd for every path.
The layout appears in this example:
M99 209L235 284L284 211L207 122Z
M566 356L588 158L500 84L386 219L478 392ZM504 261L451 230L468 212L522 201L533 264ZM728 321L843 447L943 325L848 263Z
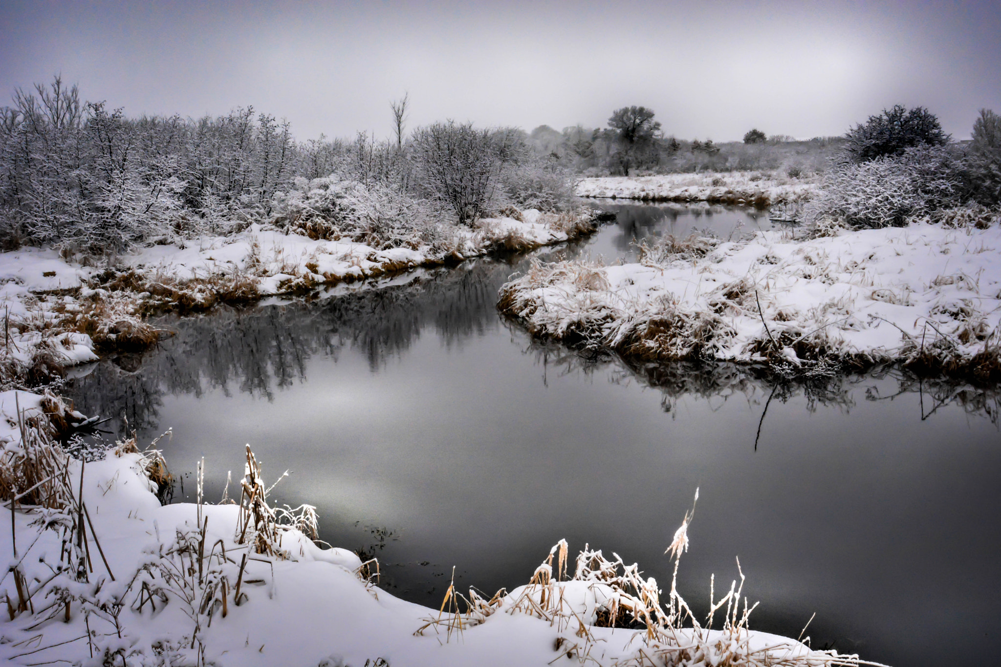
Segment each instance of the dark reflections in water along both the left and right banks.
M559 259L574 251L564 249L542 257ZM69 381L66 394L84 414L116 418L119 429L126 424L130 429L153 428L166 394L198 397L206 390L219 389L227 396L235 390L271 400L276 390L307 380L310 358L319 355L336 362L344 346L362 352L369 369L378 372L427 329L448 349L461 348L469 337L500 326L525 340L517 323L497 314L495 300L500 285L526 261L516 257L510 262L467 262L416 274L405 284L321 296L310 302L220 307L195 317L163 317L158 323L174 331L173 337L143 355L117 355L94 364L89 374ZM712 400L740 396L761 403L769 397L785 402L799 394L806 397L811 411L818 405L848 411L859 390L865 392L865 400L892 400L893 395L880 395L871 386L872 380L890 377L897 382L898 394L921 393L925 412L957 404L995 423L999 414L996 389L943 379L919 380L894 368L777 385L762 369L732 363L634 365L539 341L525 343L524 353L535 356L544 370L544 381L552 372L594 374L601 369L608 371L614 383L636 381L656 387L663 393L662 405L668 412L686 395Z

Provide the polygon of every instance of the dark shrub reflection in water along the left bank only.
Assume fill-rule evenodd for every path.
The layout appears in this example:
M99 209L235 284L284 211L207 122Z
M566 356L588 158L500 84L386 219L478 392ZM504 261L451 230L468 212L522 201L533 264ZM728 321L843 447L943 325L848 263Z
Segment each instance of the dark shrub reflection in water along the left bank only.
M470 262L422 273L404 285L312 303L163 317L158 325L172 331L171 338L144 355L94 364L70 382L67 394L77 409L114 415L132 428L155 425L165 395L201 397L218 390L231 396L235 390L270 401L275 391L307 381L312 357L336 362L345 346L376 371L425 330L451 348L496 329L496 292L513 270L505 262Z

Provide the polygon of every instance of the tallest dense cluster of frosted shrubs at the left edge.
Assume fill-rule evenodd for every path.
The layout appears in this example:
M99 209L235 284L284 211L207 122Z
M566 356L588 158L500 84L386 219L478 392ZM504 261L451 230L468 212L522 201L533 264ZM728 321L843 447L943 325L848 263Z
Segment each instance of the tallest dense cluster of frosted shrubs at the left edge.
M287 122L250 107L128 118L56 77L0 109L0 244L98 255L228 233L268 215L296 170L329 162L334 145L320 144L300 151Z

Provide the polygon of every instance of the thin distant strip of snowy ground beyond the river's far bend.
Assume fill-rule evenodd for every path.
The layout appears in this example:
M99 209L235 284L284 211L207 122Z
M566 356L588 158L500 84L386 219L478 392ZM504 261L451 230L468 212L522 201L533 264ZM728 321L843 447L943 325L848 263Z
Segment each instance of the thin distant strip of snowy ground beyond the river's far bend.
M608 176L581 180L577 194L580 197L768 206L809 199L817 192L819 183L818 176L793 178L782 173L744 171Z

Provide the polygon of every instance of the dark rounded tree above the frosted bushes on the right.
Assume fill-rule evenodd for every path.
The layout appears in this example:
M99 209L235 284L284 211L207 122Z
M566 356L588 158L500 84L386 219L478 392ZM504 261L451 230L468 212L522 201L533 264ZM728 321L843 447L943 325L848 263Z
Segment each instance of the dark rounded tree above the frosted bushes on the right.
M949 135L942 131L938 118L924 107L896 105L870 116L845 135L846 154L853 162L868 162L880 157L902 154L907 148L928 144L944 146Z

